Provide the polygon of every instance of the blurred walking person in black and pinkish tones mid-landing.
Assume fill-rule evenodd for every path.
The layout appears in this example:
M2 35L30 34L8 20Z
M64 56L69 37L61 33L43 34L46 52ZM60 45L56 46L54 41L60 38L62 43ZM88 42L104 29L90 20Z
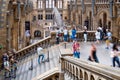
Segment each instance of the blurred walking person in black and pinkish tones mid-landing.
M99 63L96 52L97 52L96 46L92 43L91 50L90 50L90 56L88 60Z

